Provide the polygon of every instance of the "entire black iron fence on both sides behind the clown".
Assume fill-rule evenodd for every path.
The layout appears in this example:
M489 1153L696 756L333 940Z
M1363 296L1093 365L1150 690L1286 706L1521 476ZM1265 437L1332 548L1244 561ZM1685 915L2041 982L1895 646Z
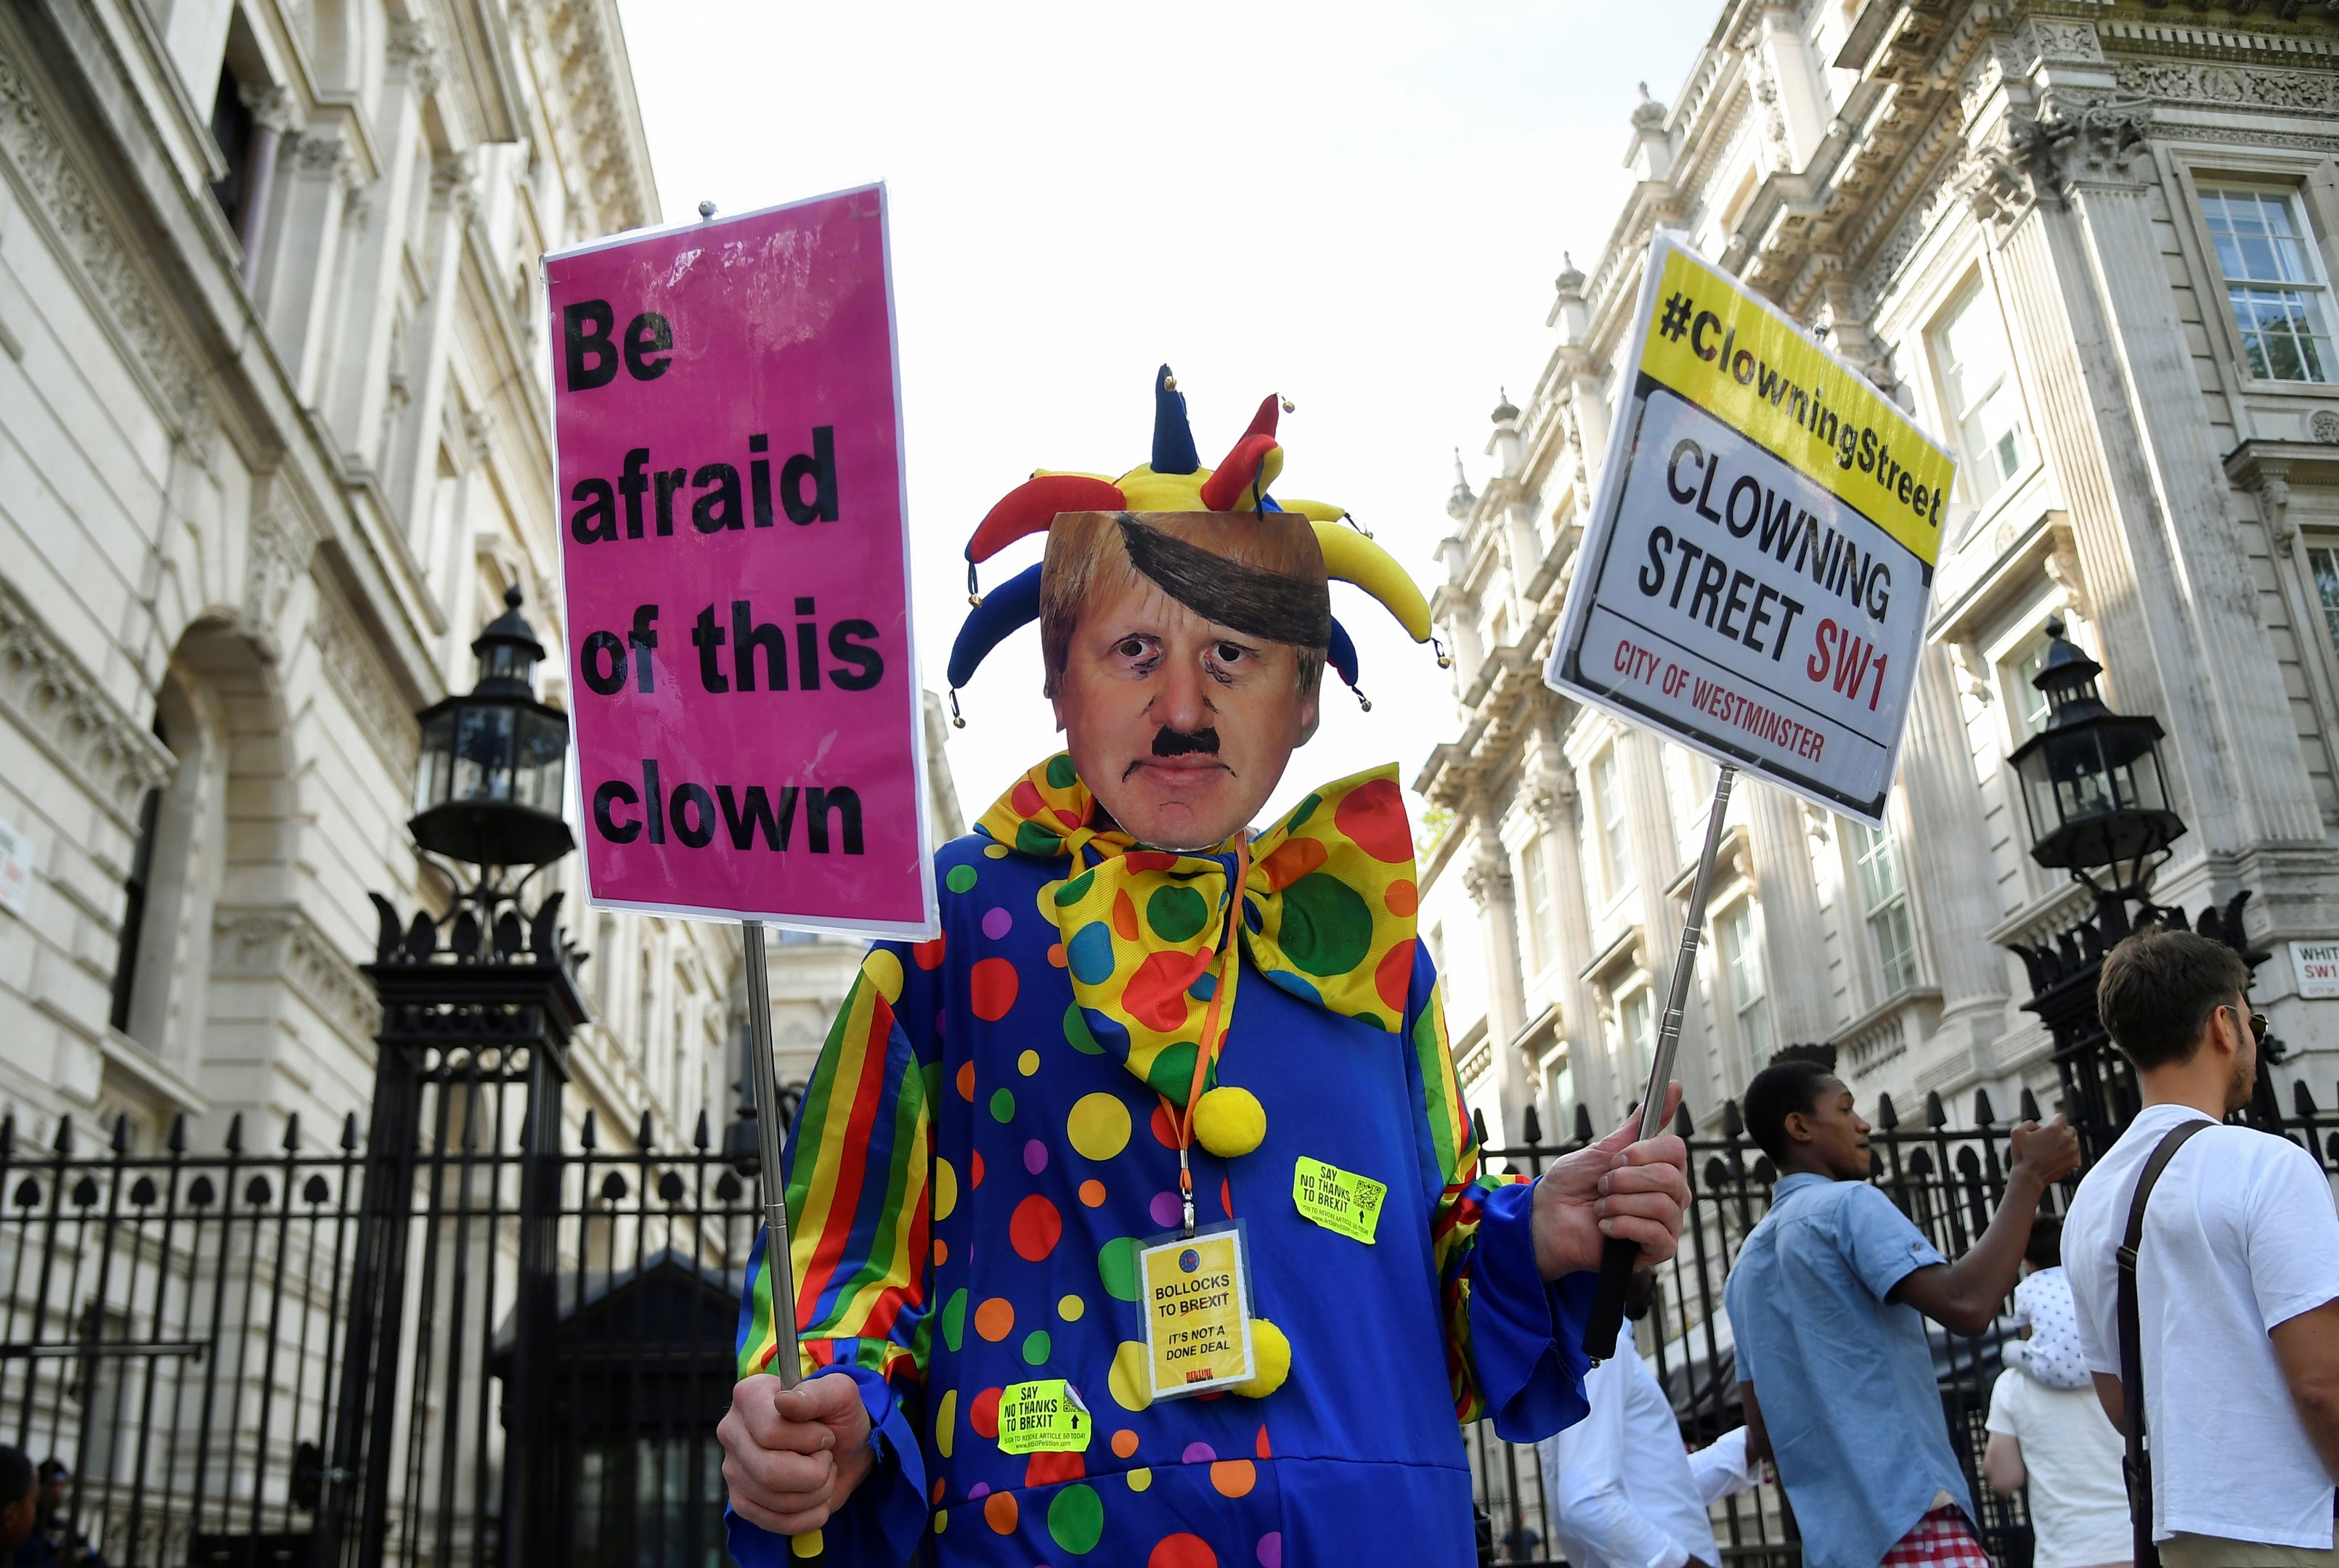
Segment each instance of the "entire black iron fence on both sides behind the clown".
M723 1479L713 1421L730 1397L732 1327L760 1217L753 1173L713 1145L603 1147L587 1115L550 1152L557 1260L543 1425L522 1437L517 1393L522 1147L526 1084L496 1052L449 1052L426 1073L400 1224L405 1269L395 1334L365 1362L379 1444L332 1463L349 1423L344 1381L358 1288L367 1157L356 1119L327 1145L288 1124L276 1147L194 1152L185 1126L136 1152L126 1126L105 1145L58 1126L26 1147L0 1124L0 1437L73 1470L65 1524L117 1568L243 1568L370 1561L451 1568L512 1561L519 1510L512 1444L536 1444L557 1535L580 1568L716 1568ZM2339 1173L2339 1112L2292 1084L2255 1124L2309 1145ZM2023 1105L2021 1115L2033 1115ZM1876 1108L1876 1182L1951 1257L2005 1192L2005 1136L1988 1096L1974 1126L1920 1124ZM1684 1129L1689 1131L1689 1129ZM1539 1173L1581 1147L1492 1150L1492 1168ZM1691 1136L1698 1194L1679 1257L1661 1271L1640 1344L1689 1444L1738 1425L1722 1283L1768 1213L1775 1171L1724 1110L1722 1133ZM2051 1199L2061 1206L2061 1194ZM379 1325L377 1325L379 1327ZM1981 1484L1981 1430L2007 1327L1932 1330L1944 1416L1974 1482L1983 1538L2009 1568L2030 1556L2019 1498ZM1544 1472L1532 1444L1471 1430L1490 1559L1555 1563ZM377 1498L367 1507L367 1479ZM334 1498L351 1531L323 1533ZM360 1521L379 1549L356 1542ZM1717 1505L1729 1568L1792 1568L1794 1519L1775 1486Z

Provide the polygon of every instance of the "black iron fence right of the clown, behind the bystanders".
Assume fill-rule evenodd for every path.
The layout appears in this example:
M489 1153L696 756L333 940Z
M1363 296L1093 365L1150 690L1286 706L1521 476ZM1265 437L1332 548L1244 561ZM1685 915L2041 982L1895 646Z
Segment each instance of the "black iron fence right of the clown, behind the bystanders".
M1976 1091L1972 1110L1974 1124L1962 1129L1948 1126L1939 1096L1925 1098L1918 1126L1904 1124L1888 1096L1878 1096L1874 1110L1871 1180L1946 1257L1960 1257L1981 1236L2005 1196L2009 1129L1998 1122L1988 1094ZM2133 1101L2124 1112L2133 1115ZM2028 1091L2019 1115L2021 1119L2040 1115ZM2323 1110L2304 1080L2292 1082L2290 1112L2283 1115L2271 1075L2262 1073L2257 1098L2234 1119L2290 1138L2313 1152L2325 1173L2339 1178L2339 1110ZM1642 1353L1654 1360L1656 1376L1672 1397L1682 1439L1703 1446L1745 1421L1729 1316L1722 1311L1722 1283L1747 1231L1771 1210L1778 1171L1745 1136L1736 1105L1724 1105L1719 1136L1698 1136L1686 1110L1675 1129L1689 1140L1689 1185L1696 1208L1679 1253L1658 1269L1656 1309L1637 1334ZM1532 1112L1527 1131L1530 1138L1537 1131ZM1591 1138L1591 1119L1579 1108L1574 1138L1488 1150L1488 1168L1539 1175L1553 1159L1584 1147ZM2110 1138L2103 1140L2105 1147L2107 1143ZM2077 1178L2051 1192L2047 1208L2061 1213L2075 1187ZM2000 1346L2014 1332L2012 1318L2002 1316L1976 1337L1951 1334L1934 1323L1925 1330L1951 1446L1981 1510L1981 1540L2005 1568L2028 1568L2030 1519L2023 1498L2019 1493L2002 1498L1981 1477L1981 1451L1988 1446L1983 1421L1998 1379ZM1537 1446L1499 1442L1490 1423L1478 1423L1471 1428L1469 1449L1485 1561L1555 1566L1560 1556L1551 1538L1551 1505ZM1775 1482L1719 1503L1714 1535L1726 1568L1792 1568L1801 1561L1794 1514Z

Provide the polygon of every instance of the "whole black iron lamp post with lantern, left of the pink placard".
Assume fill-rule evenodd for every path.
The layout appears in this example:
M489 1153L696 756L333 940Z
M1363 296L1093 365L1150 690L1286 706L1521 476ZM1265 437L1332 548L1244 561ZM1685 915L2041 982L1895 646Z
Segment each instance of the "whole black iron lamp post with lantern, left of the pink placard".
M470 645L479 657L477 685L416 715L421 764L407 830L454 890L447 914L421 909L402 925L398 909L372 895L381 930L365 974L381 998L381 1031L346 1316L351 1355L332 1435L334 1475L351 1479L330 1491L318 1514L318 1561L339 1561L349 1542L356 1556L379 1559L395 1512L386 1411L398 1358L407 1353L409 1215L414 1194L428 1185L423 1129L435 1126L437 1138L447 1138L449 1119L461 1115L465 1150L479 1136L479 1119L501 1140L508 1136L505 1089L524 1091L526 1110L519 1117L515 1351L503 1397L503 1561L550 1568L573 1556L561 1535L552 1344L564 1213L561 1094L568 1040L587 1019L575 984L585 953L559 925L559 893L533 911L519 904L529 879L575 848L561 820L568 717L536 701L531 689L545 645L519 615L519 589L503 603L503 615ZM433 1231L416 1234L423 1246L437 1246ZM430 1257L435 1253L426 1255L426 1281ZM430 1332L428 1323L414 1332ZM381 1367L391 1372L377 1379Z

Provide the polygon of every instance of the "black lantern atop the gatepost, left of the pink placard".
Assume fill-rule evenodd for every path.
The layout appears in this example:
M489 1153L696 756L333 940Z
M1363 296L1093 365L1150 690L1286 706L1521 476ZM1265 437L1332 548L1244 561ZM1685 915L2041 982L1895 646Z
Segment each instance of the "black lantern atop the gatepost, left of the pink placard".
M540 867L575 848L561 820L568 715L536 701L545 645L519 615L519 589L503 603L470 645L479 685L416 715L423 750L407 832L449 860Z

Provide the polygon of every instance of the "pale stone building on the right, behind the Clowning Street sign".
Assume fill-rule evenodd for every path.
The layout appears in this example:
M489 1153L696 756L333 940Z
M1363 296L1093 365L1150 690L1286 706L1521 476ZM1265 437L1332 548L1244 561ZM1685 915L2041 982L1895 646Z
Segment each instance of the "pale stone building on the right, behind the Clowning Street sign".
M2056 1094L2007 942L2082 890L2030 862L2007 755L2044 624L2168 729L2189 832L2154 893L2248 888L2252 998L2330 1094L2339 1002L2290 942L2339 935L2339 14L2302 0L1729 0L1635 187L1558 276L1492 472L1457 456L1434 610L1460 734L1422 921L1474 1103L1565 1131L1637 1098L1714 769L1539 680L1619 404L1656 229L1860 365L1960 458L1885 832L1766 785L1731 802L1679 1077L1691 1112L1824 1040L1874 1103Z

